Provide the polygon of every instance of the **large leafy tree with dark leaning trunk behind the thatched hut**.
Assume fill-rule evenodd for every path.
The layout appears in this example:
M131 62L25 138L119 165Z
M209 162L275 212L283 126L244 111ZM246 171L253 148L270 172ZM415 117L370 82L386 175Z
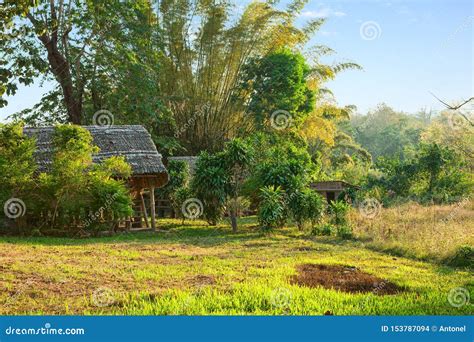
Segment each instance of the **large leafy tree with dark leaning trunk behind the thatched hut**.
M56 84L37 106L22 113L32 123L90 124L100 109L116 119L123 109L132 112L139 101L129 97L158 96L157 87L147 88L149 79L158 83L159 45L151 6L145 0L7 0L0 12L6 32L0 39L0 96L13 95L19 84L38 78ZM153 63L155 68L146 69ZM6 105L3 97L1 105Z

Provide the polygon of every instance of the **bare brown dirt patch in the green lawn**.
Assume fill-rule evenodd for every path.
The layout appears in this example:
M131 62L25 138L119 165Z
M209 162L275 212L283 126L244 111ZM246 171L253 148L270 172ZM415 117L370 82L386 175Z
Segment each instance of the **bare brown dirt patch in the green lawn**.
M303 264L297 267L298 274L290 279L291 284L307 287L322 286L350 293L372 292L390 295L405 289L372 274L350 266Z

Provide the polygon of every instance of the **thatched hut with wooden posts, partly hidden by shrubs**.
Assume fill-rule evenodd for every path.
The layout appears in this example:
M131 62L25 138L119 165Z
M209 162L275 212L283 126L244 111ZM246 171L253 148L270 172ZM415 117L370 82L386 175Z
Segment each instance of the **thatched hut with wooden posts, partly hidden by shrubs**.
M128 228L138 221L140 225L137 228L141 228L143 223L145 228L149 228L144 198L144 194L149 193L151 228L156 229L155 188L168 183L168 172L150 133L140 125L83 127L91 133L93 144L100 149L100 152L93 156L94 163L100 163L112 156L124 156L132 168L128 185L134 198L134 211L139 212L140 216L130 218ZM37 150L34 157L38 164L38 171L47 172L53 157L54 127L25 127L24 133L36 139Z

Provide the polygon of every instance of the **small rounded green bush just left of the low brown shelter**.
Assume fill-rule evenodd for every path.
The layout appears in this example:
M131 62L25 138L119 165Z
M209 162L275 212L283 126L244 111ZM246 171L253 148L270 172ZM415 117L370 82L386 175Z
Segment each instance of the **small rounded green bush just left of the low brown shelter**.
M305 188L289 196L288 207L299 229L306 222L314 227L323 216L324 200L316 191Z

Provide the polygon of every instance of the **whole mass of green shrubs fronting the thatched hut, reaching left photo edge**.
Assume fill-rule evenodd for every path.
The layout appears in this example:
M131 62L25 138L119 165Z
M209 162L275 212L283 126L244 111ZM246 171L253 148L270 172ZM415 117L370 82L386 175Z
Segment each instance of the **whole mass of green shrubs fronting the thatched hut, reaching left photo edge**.
M84 231L93 234L113 228L117 219L132 214L130 194L122 180L130 176L130 165L124 157L94 165L92 155L98 148L92 145L92 136L86 129L57 126L51 167L39 175L33 175L34 140L23 136L21 125L2 126L0 135L5 138L0 145L1 167L6 166L12 153L20 163L12 161L10 166L15 168L5 173L12 177L0 179L1 189L9 192L2 191L2 196L18 197L26 205L25 222L16 221L16 228L26 227L35 234L75 233L75 218L82 222ZM15 177L18 171L24 172L21 178Z

